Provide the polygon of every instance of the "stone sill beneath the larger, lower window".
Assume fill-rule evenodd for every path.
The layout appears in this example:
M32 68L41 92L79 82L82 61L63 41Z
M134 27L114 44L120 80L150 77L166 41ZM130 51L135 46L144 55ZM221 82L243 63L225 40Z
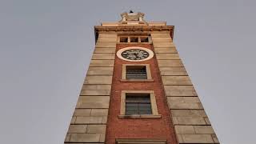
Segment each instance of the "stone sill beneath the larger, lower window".
M118 115L118 118L126 119L160 119L161 114L133 114L133 115Z

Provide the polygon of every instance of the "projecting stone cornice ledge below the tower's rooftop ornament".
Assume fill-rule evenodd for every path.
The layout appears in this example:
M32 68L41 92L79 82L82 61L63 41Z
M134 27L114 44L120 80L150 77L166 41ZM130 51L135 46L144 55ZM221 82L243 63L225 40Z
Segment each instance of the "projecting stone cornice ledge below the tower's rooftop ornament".
M174 38L174 26L94 26L95 34L98 32L124 32L124 31L170 31L171 38Z

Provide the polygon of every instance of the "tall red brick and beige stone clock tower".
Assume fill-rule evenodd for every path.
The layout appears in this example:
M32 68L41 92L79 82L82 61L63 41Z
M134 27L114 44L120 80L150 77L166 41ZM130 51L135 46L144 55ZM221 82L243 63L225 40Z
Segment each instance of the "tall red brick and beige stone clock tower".
M65 143L219 143L173 42L174 26L122 13L95 49Z

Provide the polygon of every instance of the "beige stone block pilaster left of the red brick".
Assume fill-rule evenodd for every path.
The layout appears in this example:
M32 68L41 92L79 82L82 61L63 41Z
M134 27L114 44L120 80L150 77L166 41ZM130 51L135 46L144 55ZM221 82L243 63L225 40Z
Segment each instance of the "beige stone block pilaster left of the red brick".
M105 143L117 34L99 34L65 143Z

